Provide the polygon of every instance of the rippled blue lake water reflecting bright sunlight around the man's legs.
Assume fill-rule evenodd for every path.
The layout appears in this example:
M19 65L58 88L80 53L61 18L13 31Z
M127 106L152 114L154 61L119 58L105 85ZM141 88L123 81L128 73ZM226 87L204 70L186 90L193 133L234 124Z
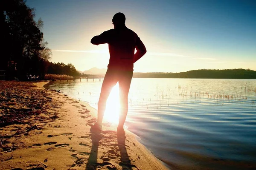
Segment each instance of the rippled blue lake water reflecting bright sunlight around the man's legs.
M56 81L61 90L97 108L102 82ZM105 120L118 122L118 86ZM256 168L255 79L134 78L125 126L170 169Z

